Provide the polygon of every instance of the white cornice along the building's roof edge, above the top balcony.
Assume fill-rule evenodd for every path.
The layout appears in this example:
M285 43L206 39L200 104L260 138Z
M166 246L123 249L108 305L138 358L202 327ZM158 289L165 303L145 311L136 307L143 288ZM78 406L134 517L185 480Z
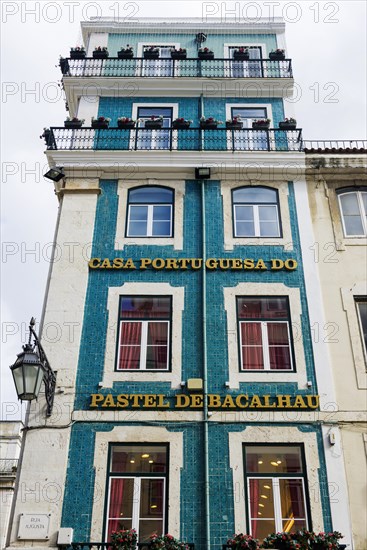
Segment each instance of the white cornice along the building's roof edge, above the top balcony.
M149 18L149 19L113 19L110 17L99 17L95 21L82 21L81 23L84 43L88 43L91 33L169 33L185 34L193 31L207 31L213 34L257 34L257 33L283 33L285 29L284 20L281 17L262 18L258 21L245 21L243 17L232 19L208 18Z

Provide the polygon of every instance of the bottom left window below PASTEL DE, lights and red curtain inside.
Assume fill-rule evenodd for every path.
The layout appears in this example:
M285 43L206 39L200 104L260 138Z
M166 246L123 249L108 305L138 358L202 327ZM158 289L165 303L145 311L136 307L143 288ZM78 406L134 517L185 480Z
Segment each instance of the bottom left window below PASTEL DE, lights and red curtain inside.
M136 529L146 542L166 528L168 446L112 445L109 459L107 536Z

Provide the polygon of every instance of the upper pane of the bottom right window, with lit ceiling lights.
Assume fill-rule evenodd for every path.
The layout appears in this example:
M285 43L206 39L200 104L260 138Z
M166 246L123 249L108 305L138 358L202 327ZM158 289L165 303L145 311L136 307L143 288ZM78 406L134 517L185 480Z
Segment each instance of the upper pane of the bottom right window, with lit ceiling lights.
M297 446L248 446L247 472L262 474L301 473L301 450Z

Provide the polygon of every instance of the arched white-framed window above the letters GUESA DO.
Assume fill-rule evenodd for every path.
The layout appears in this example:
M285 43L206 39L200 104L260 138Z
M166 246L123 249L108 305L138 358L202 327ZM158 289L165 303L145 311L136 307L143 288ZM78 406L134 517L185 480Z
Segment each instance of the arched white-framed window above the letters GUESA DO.
M280 237L278 192L241 187L232 192L235 237Z

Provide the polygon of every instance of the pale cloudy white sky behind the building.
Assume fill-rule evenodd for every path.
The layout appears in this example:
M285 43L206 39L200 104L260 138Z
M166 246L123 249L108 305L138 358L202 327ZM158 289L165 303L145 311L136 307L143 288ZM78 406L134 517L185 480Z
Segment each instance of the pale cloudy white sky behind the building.
M283 16L304 139L366 139L366 6L339 2L1 2L1 397L4 420L20 417L9 370L32 316L40 319L57 213L44 180L46 126L67 115L59 55L81 44L79 22L95 16ZM232 12L232 13L230 13ZM33 252L31 252L33 251ZM50 339L55 333L50 332ZM57 335L55 336L57 337Z

